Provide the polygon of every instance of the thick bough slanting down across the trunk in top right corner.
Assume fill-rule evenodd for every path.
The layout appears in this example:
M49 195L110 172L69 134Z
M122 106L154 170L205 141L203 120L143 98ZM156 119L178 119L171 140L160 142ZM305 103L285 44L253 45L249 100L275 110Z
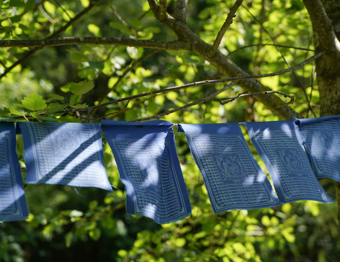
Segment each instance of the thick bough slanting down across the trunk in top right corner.
M340 51L340 44L335 36L332 22L328 18L320 0L303 0L303 3L312 22L313 32L317 34L322 49ZM315 44L317 45L318 43Z

